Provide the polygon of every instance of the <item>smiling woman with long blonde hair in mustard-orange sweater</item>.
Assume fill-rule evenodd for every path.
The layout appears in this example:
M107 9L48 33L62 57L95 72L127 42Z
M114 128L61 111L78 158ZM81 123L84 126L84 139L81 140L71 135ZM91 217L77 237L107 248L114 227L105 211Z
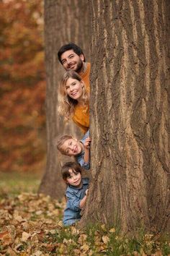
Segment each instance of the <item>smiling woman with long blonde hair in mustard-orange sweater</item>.
M72 119L84 134L89 129L89 94L79 74L70 70L63 74L59 85L58 111Z

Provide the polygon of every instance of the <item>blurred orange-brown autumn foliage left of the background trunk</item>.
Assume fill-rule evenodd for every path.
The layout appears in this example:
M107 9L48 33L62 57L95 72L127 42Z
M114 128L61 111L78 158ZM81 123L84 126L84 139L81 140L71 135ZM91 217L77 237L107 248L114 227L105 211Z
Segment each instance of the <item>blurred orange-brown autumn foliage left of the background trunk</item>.
M0 1L0 171L45 161L42 0Z

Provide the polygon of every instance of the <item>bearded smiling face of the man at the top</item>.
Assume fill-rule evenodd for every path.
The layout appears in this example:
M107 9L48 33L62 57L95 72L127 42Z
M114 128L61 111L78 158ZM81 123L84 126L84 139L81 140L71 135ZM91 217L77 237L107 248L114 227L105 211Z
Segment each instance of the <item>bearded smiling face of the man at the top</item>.
M64 69L67 71L72 69L76 72L81 72L82 67L84 66L84 55L77 55L73 50L65 51L61 55L61 63L63 64Z

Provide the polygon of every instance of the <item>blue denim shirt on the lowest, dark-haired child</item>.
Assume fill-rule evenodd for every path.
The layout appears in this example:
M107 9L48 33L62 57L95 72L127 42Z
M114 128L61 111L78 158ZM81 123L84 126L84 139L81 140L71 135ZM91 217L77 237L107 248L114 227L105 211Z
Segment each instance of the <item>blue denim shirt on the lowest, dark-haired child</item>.
M86 189L89 187L89 179L82 179L82 187L76 188L68 185L66 189L67 204L63 215L63 224L69 226L81 219L80 201L84 198Z

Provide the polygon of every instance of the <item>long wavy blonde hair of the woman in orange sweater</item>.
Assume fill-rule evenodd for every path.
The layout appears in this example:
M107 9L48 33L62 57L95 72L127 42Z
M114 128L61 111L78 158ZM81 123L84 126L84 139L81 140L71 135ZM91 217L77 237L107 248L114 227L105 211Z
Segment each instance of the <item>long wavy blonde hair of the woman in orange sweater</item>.
M66 93L66 82L68 78L73 78L76 80L79 80L81 82L82 79L73 70L69 70L66 73L63 74L63 77L61 78L61 82L59 84L59 93L58 93L58 112L62 116L65 116L66 119L71 119L71 117L74 114L74 108L78 104L78 101L74 100L73 98L69 97ZM84 83L84 82L83 82ZM83 95L82 95L82 102L83 106L86 106L85 111L89 108L89 94L86 92L85 86L83 87Z

